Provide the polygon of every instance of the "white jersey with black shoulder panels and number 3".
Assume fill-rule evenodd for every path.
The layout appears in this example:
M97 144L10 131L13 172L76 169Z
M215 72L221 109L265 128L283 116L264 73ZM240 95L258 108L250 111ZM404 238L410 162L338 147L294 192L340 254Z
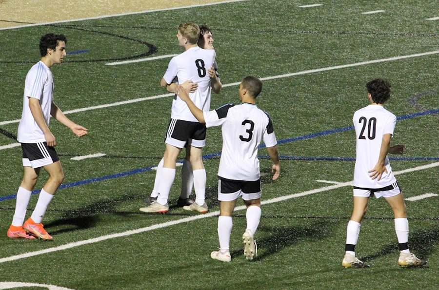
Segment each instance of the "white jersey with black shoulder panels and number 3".
M224 105L204 112L206 127L221 126L222 152L218 176L242 181L260 178L258 146L277 144L270 116L249 103Z

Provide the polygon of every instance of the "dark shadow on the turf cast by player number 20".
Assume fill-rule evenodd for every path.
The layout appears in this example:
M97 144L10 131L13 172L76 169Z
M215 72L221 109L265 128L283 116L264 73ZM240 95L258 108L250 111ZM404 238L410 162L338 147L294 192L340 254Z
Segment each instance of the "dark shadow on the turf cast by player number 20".
M434 251L434 247L439 244L439 230L422 230L417 232L410 232L409 236L409 248L411 252L414 252L417 257L426 259ZM381 251L360 257L362 261L371 261L373 259L383 257L389 253L398 251L398 244L389 244L381 249Z

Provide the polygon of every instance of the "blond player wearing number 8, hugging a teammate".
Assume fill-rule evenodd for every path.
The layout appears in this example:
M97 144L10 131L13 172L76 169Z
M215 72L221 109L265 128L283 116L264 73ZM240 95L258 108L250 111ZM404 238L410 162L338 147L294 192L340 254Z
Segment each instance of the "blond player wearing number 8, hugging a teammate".
M176 77L179 84L188 80L193 81L197 84L197 89L194 93L190 93L190 96L200 109L208 111L211 94L211 77L208 70L213 67L216 54L213 49L200 48L197 44L199 37L200 27L196 23L185 22L179 25L177 39L185 52L171 59L168 69L160 81L160 86L175 92L178 85L173 81ZM196 197L194 203L183 207L183 209L200 213L208 212L205 203L206 171L202 163L202 147L206 143L205 136L206 126L200 124L191 114L187 105L175 96L165 140L163 167L157 173L159 178L157 200L147 207L140 208L140 211L145 213L168 212L168 196L175 179L175 162L181 149L187 147L186 150L190 151Z

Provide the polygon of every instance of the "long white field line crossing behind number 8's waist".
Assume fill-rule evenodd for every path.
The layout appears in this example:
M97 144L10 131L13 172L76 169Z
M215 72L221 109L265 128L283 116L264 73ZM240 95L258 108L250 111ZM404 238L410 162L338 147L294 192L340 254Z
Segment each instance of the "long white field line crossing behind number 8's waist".
M330 67L325 67L325 68L306 70L306 71L301 71L301 72L297 72L297 73L283 74L283 75L277 75L277 76L272 76L272 77L261 77L259 79L260 80L270 80L270 79L277 79L277 78L294 77L294 76L313 74L313 73L337 70L337 69L348 68L348 67L355 67L355 66L372 64L372 63L393 61L393 60L399 60L399 59L405 59L405 58L417 58L417 57L423 57L423 56L429 56L429 55L435 55L435 54L439 54L439 50L424 52L424 53L419 53L419 54L413 54L413 55L400 56L400 57L393 57L393 58L381 58L381 59L375 59L375 60L367 60L367 61L361 61L361 62L356 62L356 63L351 63L351 64L330 66ZM228 83L228 84L223 84L222 87L226 88L226 87L231 87L231 86L237 86L239 84L240 84L240 81ZM99 106L85 107L85 108L65 111L63 113L64 113L64 115L67 115L67 114L72 114L72 113L79 113L79 112L85 112L85 111L90 111L90 110L115 107L115 106L120 106L120 105L125 105L125 104L137 103L137 102L141 102L141 101L145 101L145 100L151 100L151 99L162 98L162 97L171 97L171 96L174 96L174 94L163 94L163 95L157 95L157 96L152 96L152 97L140 97L140 98L126 100L126 101L120 101L120 102L116 102L116 103L110 103L110 104L104 104L104 105L99 105ZM20 122L20 119L10 120L10 121L2 121L2 122L0 122L0 126L6 125L6 124L18 123L18 122Z

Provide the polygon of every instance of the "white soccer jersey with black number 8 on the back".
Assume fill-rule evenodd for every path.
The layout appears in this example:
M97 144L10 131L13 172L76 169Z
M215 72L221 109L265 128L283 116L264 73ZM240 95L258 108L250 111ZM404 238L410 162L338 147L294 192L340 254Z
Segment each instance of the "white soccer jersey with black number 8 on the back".
M177 77L178 84L186 80L198 83L195 93L189 93L189 97L194 104L203 111L210 110L210 77L207 70L213 66L215 61L215 50L192 47L182 54L171 59L163 76L164 80L170 84ZM175 96L172 102L171 118L198 122L191 111L180 97Z

